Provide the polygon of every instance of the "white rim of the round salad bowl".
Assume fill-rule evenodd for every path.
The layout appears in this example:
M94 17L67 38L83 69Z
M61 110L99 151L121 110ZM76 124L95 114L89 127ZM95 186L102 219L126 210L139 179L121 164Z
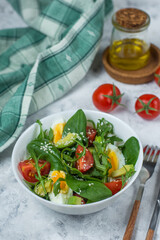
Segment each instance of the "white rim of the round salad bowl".
M77 109L78 110L78 109ZM47 118L49 117L56 117L56 115L70 115L72 116L71 114L74 114L77 110L70 110L70 111L62 111L62 112L58 112L58 113L53 113L53 114L49 114L47 115L46 117L44 118L41 118L40 121L43 122L45 121ZM106 199L103 199L103 200L100 200L100 201L97 201L97 202L93 202L93 203L89 203L89 204L83 204L83 205L69 205L69 204L60 204L60 203L54 203L54 202L51 202L49 200L46 200L44 198L41 198L39 197L38 195L36 195L35 193L33 193L31 190L29 190L29 188L27 188L25 186L25 184L23 183L23 181L19 178L18 174L17 174L17 166L16 166L16 152L17 152L17 148L19 146L19 143L21 142L21 138L28 134L28 132L30 131L30 129L32 129L36 123L32 123L28 128L26 128L22 134L19 136L19 138L17 139L15 145L14 145L14 148L13 148L13 151L12 151L12 156L11 156L11 161L12 161L12 170L13 170L13 173L14 173L14 176L16 178L16 180L18 181L18 183L23 187L23 189L25 189L27 192L29 192L29 194L31 194L31 196L33 196L34 198L38 199L39 201L43 202L45 205L49 204L50 206L57 206L57 207L61 207L61 208L72 208L72 209L82 209L82 208L88 208L89 206L98 206L98 205L101 205L105 202L109 202L110 200L114 200L116 199L119 195L121 195L123 192L125 192L132 184L133 182L136 180L137 176L139 175L139 172L141 170L141 167L142 167L142 164L143 164L143 147L142 147L142 143L137 135L137 133L127 124L125 123L123 120L119 119L118 117L115 117L111 114L108 114L108 113L104 113L104 112L99 112L99 111L95 111L95 110L85 110L85 109L82 109L85 113L85 115L88 113L90 114L99 114L99 115L104 115L106 116L106 120L107 120L107 117L108 118L111 118L111 119L114 119L116 121L119 121L121 124L123 125L126 125L127 128L129 128L131 130L131 132L133 132L134 136L137 138L138 142L139 142L139 145L140 145L140 151L139 151L139 156L138 156L138 159L139 159L139 169L136 170L135 174L133 175L133 177L130 179L129 183L121 190L119 191L118 193L116 193L115 195L109 197L109 198L106 198ZM101 118L101 116L99 117ZM98 118L97 118L98 119ZM109 121L109 120L108 120Z

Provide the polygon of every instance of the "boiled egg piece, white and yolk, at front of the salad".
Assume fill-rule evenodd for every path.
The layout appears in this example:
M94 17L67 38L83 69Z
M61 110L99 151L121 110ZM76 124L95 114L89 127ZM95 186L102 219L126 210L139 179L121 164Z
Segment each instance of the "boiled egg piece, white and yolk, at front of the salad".
M53 189L54 183L59 178L65 179L65 172L64 171L51 171L49 173L49 177L53 180ZM60 192L55 196L53 189L51 193L49 193L49 198L51 202L59 203L59 204L67 204L68 199L73 195L73 191L71 188L68 187L66 181L60 181Z

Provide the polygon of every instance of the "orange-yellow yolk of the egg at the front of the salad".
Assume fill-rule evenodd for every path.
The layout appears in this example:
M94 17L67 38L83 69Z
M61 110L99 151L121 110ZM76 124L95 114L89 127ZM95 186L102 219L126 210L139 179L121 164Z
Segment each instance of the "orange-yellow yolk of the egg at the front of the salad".
M66 174L63 171L53 171L51 174L51 179L53 180L53 183L55 183L59 178L65 179ZM68 185L66 181L60 181L60 192L61 193L67 193L68 192Z

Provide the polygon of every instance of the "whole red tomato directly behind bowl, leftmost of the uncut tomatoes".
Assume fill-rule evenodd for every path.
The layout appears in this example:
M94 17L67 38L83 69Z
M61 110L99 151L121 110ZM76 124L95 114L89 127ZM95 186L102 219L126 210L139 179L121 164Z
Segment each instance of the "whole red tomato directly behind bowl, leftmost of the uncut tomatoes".
M118 87L113 84L103 84L93 93L92 100L96 108L103 112L111 112L120 105L121 94Z

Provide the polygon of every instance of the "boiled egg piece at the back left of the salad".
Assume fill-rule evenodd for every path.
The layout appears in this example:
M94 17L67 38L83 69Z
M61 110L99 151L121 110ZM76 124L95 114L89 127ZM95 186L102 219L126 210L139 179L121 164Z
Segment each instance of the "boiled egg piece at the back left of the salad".
M53 129L54 143L57 143L62 138L62 133L63 133L65 124L66 123L63 119L59 119L58 121L53 122L52 129Z

